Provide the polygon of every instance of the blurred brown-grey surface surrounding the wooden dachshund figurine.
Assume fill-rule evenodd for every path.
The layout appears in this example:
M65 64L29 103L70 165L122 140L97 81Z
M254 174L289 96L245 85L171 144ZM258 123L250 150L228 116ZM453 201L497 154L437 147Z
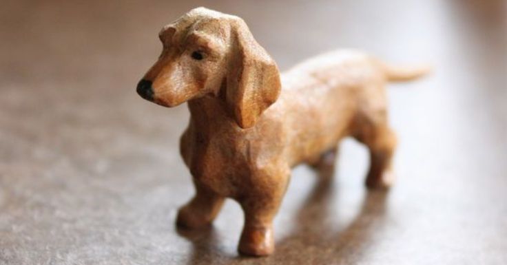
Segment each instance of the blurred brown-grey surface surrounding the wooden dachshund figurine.
M395 187L367 193L346 140L330 183L293 171L275 255L237 255L232 201L177 231L187 107L135 85L196 6L244 18L282 70L335 47L433 63L389 89ZM1 3L0 264L507 264L506 18L500 0Z

